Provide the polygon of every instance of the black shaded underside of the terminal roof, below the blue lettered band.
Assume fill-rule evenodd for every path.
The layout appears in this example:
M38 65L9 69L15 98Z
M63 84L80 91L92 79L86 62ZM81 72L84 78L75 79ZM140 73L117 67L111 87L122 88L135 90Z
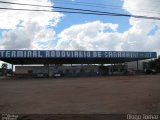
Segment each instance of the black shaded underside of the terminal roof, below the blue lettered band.
M142 58L2 58L4 62L18 64L113 64L144 60Z

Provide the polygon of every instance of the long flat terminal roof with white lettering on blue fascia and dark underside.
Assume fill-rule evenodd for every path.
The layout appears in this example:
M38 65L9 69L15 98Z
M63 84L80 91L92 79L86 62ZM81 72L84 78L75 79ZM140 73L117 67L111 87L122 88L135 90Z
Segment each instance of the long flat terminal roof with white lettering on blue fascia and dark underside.
M157 58L156 52L0 50L0 60L15 64L113 64Z

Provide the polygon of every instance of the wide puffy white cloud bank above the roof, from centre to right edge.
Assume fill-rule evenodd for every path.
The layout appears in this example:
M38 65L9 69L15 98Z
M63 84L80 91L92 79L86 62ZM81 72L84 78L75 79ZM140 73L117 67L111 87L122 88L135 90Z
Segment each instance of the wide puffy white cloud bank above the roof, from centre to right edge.
M56 49L160 51L158 21L130 18L130 25L123 33L117 32L117 24L100 21L73 25L58 35Z

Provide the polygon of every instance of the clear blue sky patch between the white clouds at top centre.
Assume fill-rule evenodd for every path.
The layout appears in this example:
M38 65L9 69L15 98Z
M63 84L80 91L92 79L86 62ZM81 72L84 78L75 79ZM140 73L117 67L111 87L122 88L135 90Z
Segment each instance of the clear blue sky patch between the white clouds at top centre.
M119 7L119 9L111 9L107 8L107 5L113 5L113 6L122 6L123 1L121 0L75 0L72 1L73 4L64 4L62 3L57 3L58 0L55 0L54 5L57 7L69 7L69 8L80 8L80 9L88 9L88 10L96 10L96 11L109 11L109 12L118 12L118 13L126 13L123 9ZM67 1L67 0L66 0ZM68 0L69 3L71 0ZM86 6L84 5L79 5L76 4L78 2L84 2L86 3ZM66 2L65 2L66 3ZM87 6L87 3L92 3L91 6ZM100 7L101 5L104 5ZM106 5L106 6L105 6ZM83 24L95 20L100 20L103 22L108 22L108 23L115 23L119 24L118 31L119 32L124 32L127 30L130 25L128 24L129 18L128 17L113 17L113 16L97 16L97 15L81 15L81 14L65 14L65 17L62 18L61 22L58 23L57 27L55 27L55 30L57 33L61 32L63 29L70 27L71 25L75 24Z

